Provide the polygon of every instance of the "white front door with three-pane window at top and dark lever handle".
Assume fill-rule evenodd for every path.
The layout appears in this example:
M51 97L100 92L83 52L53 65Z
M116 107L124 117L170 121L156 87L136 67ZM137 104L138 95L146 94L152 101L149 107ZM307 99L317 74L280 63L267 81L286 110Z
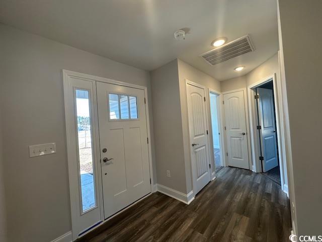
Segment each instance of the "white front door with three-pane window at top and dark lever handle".
M144 91L97 82L105 219L151 192Z

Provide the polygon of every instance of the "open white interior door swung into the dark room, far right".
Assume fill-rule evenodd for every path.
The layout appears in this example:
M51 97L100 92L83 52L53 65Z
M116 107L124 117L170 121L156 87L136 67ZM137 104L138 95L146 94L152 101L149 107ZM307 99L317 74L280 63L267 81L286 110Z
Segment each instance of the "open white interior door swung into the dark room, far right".
M257 88L263 172L278 166L273 91Z

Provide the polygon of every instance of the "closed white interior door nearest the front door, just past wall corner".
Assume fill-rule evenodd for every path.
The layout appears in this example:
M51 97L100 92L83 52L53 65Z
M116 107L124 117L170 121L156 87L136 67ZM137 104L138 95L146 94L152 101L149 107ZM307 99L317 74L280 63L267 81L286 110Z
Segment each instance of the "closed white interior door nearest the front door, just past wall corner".
M187 83L187 104L194 193L211 179L205 89Z

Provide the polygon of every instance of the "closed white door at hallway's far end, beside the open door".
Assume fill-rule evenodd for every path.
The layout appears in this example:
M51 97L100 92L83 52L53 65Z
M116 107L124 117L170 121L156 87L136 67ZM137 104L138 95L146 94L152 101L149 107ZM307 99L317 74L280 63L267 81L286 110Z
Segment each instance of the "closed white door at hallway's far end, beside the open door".
M244 91L223 95L228 165L249 169Z

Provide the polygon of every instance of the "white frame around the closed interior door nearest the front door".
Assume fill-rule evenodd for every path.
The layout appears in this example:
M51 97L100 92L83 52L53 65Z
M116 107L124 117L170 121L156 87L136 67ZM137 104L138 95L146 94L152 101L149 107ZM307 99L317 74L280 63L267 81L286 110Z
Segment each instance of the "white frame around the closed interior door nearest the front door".
M195 82L192 82L192 81L189 81L188 79L186 79L186 85L185 85L185 88L186 88L186 93L187 93L187 85L192 85L192 86L196 86L196 87L199 87L199 88L202 88L204 89L204 92L205 92L205 97L206 97L206 87L205 86L202 86L198 83L195 83ZM186 94L187 95L187 94ZM205 109L206 109L206 124L207 124L207 130L208 130L208 152L209 152L209 149L210 149L210 135L212 135L212 133L209 132L209 110L210 110L210 102L209 102L209 94L208 94L208 101L206 99L206 102L205 102ZM187 98L186 98L186 107L187 107L187 110L188 110L188 95L187 95ZM189 115L189 114L188 114ZM187 120L188 122L188 127L189 127L189 118ZM190 156L190 170L191 170L191 179L192 179L192 191L193 191L193 196L195 197L196 196L196 181L194 180L193 178L193 166L192 166L192 157L191 157L191 141L190 141L190 133L189 133L189 156ZM210 157L210 154L208 153L208 157L210 159L210 162L211 164L214 163L214 158L213 158L213 151L212 151L212 157ZM213 165L211 165L211 168L210 168L210 172L212 173L212 169L213 169ZM215 177L214 177L215 178ZM212 176L211 176L211 179L214 179Z

